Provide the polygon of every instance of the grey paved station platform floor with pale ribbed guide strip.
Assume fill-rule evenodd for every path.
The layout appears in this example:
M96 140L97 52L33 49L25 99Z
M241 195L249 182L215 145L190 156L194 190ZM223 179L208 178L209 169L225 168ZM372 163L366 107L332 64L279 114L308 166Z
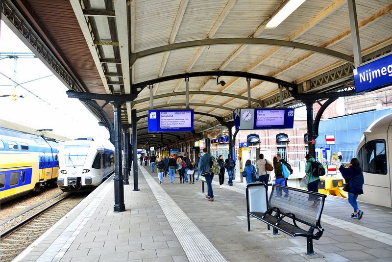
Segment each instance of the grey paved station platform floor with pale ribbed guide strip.
M101 184L14 261L36 262L237 262L392 261L392 209L359 202L364 215L352 219L346 199L328 196L325 229L304 255L306 238L270 237L267 225L251 220L247 231L245 183L220 189L214 202L201 182L159 184L150 167L138 166L139 189L124 185L124 212L113 212L113 179ZM132 174L132 173L131 173ZM177 175L178 176L178 175ZM227 183L227 174L226 174Z

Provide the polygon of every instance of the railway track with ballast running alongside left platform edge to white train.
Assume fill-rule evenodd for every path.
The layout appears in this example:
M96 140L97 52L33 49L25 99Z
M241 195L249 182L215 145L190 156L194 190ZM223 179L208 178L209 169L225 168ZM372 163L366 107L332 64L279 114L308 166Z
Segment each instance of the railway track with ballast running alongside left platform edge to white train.
M87 195L68 194L9 230L1 232L0 261L12 261Z

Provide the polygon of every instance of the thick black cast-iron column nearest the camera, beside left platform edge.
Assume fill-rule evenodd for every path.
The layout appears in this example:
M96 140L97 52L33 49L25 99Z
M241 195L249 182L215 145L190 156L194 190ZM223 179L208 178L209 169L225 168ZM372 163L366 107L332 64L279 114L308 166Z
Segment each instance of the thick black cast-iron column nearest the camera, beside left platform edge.
M123 170L121 159L121 106L123 102L110 102L114 108L114 212L125 211Z

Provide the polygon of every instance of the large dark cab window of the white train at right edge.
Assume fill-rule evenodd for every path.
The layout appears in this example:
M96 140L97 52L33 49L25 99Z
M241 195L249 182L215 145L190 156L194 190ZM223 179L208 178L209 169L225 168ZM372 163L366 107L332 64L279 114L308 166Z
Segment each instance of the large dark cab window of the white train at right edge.
M362 169L372 174L387 174L387 155L385 140L372 140L361 148L358 154Z

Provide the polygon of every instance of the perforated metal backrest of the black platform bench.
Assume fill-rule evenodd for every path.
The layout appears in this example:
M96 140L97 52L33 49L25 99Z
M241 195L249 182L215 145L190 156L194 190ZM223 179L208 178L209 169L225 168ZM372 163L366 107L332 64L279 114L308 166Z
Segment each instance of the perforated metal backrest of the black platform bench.
M285 197L286 192L283 189L287 190L291 197ZM272 184L268 208L279 208L283 214L294 213L297 221L314 228L321 228L320 216L325 197L324 194Z

